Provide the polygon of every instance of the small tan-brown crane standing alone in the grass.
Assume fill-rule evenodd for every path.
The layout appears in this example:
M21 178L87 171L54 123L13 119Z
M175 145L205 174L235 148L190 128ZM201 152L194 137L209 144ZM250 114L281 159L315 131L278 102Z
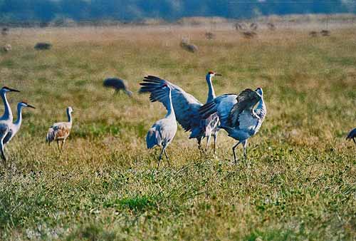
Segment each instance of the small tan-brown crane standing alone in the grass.
M54 123L49 129L46 137L46 142L51 144L52 141L56 140L58 145L58 150L63 150L64 143L70 134L70 129L72 128L72 112L73 108L70 106L67 108L68 122L58 122ZM62 145L59 143L62 142Z

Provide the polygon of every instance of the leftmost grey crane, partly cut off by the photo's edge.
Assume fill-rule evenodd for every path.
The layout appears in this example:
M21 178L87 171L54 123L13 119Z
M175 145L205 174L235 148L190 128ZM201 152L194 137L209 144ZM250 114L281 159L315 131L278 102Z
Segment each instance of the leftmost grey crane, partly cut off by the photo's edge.
M0 118L0 148L1 148L1 158L4 161L4 165L6 165L6 156L4 153L4 138L6 137L7 133L9 133L9 130L12 125L12 121L14 120L14 117L12 116L12 111L11 107L9 105L9 102L6 99L6 93L8 92L20 92L15 90L14 88L9 88L4 86L0 90L0 96L2 98L2 101L4 102L4 115L1 116Z

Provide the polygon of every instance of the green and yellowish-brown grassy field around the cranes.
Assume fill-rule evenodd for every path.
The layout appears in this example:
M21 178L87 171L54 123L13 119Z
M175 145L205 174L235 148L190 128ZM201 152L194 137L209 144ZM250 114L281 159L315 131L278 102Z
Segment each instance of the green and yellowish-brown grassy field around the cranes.
M210 29L209 29L210 30ZM0 174L0 240L355 240L356 32L136 27L13 29L1 44L1 85L15 111L26 99L20 132ZM187 36L199 47L179 47ZM53 43L35 51L38 41ZM166 111L138 95L154 74L201 102L207 71L216 94L262 87L268 115L233 165L234 140L219 133L217 157L203 155L179 127L167 149L172 166L157 170L148 128ZM127 79L133 98L103 88ZM45 143L48 127L66 120L66 150ZM3 108L1 108L1 111ZM16 112L16 111L15 111ZM15 115L16 116L16 115ZM239 156L242 156L241 147Z

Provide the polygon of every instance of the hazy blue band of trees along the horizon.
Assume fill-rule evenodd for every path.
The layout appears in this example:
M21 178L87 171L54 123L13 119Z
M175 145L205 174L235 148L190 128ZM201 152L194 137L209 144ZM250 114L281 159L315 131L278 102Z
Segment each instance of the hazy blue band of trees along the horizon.
M140 21L147 18L175 21L187 16L251 19L271 14L355 13L355 1L308 0L0 0L0 22Z

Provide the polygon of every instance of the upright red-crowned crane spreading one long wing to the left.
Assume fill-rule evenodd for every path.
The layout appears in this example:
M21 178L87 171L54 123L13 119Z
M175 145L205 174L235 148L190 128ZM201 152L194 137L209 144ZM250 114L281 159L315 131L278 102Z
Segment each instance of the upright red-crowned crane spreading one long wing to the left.
M206 102L214 100L215 93L212 86L212 78L214 76L221 76L219 73L209 71L206 75L206 82L208 83L209 92ZM206 148L209 145L209 140L211 135L214 136L214 151L216 150L216 138L219 128L219 118L216 113L213 113L211 116L206 116L206 118L201 118L199 116L199 108L203 106L194 96L185 92L179 86L170 83L162 78L156 76L146 76L143 79L143 82L140 83L142 86L140 88L140 93L150 93L150 101L155 102L159 101L167 107L167 103L164 103L164 100L167 98L167 93L163 94L161 91L162 86L167 85L171 88L172 92L172 105L174 108L175 116L182 128L185 131L190 131L191 134L189 138L196 138L198 141L199 148L201 149L201 140L207 138Z

